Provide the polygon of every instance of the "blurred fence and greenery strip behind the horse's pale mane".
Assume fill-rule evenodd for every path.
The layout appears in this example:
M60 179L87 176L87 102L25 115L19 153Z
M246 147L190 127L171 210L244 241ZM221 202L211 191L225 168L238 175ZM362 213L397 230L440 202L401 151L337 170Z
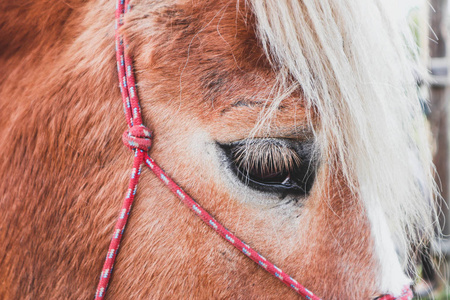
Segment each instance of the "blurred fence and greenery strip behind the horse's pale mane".
M424 117L431 129L436 180L442 195L436 201L442 211L439 226L444 235L435 247L427 250L433 254L434 261L423 257L418 261L421 278L415 284L415 299L450 299L450 51L447 51L450 9L448 0L399 0L393 9L400 19L406 18L419 47L420 59L428 68L429 77L425 79L428 85L423 84L423 78L418 78L418 83ZM433 264L437 265L437 272L433 271Z

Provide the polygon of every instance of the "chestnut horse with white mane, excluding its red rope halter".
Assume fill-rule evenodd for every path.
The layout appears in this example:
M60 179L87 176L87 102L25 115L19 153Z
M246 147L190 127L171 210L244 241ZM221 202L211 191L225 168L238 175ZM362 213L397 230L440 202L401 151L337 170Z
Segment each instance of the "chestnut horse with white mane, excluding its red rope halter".
M417 49L385 3L130 5L121 32L150 154L189 195L324 299L412 283L413 250L435 236L436 185ZM95 294L133 159L114 6L0 4L1 299ZM108 297L298 295L143 168Z

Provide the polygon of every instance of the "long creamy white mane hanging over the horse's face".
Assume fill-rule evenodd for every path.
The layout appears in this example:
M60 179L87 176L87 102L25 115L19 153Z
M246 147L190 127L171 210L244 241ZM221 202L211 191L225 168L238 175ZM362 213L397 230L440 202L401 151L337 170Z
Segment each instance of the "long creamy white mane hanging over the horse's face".
M381 207L406 264L436 220L412 38L377 0L250 2L281 84L300 85L319 116L322 163L338 162L366 208Z

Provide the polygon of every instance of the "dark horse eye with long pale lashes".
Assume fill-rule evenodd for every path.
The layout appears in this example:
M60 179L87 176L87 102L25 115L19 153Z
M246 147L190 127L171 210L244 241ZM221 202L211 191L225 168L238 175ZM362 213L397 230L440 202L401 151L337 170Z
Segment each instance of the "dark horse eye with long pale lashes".
M245 185L262 192L307 196L315 179L311 143L253 139L219 144Z

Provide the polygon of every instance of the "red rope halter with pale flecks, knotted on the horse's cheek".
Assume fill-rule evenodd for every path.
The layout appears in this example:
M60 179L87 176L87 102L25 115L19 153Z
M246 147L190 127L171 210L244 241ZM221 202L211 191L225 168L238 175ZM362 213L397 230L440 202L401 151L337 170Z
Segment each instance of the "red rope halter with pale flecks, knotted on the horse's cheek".
M119 218L114 227L113 237L106 255L105 263L100 275L100 281L97 286L95 299L104 299L106 289L108 287L111 273L114 266L114 261L117 256L120 241L128 220L128 215L136 194L137 184L141 174L142 164L145 163L153 173L164 183L169 189L189 207L197 216L199 216L209 227L215 230L226 241L235 246L239 251L244 253L247 257L252 259L262 268L267 270L270 274L277 277L283 283L291 287L297 293L306 299L319 300L308 289L303 287L295 281L288 274L283 272L280 268L265 259L258 252L253 250L247 244L242 242L238 237L228 231L224 226L217 222L207 211L205 211L195 200L193 200L186 192L183 191L148 155L148 150L151 146L151 132L142 124L141 109L137 97L137 90L135 85L135 78L133 74L132 59L125 49L127 43L124 37L120 34L120 27L123 25L124 14L129 11L129 0L118 0L116 7L116 59L117 70L120 81L120 90L122 93L122 101L128 130L123 135L123 142L126 146L134 151L133 170L131 172L131 179L128 186L127 195L120 210ZM380 300L409 300L412 299L412 292L409 287L405 288L403 295L398 298L387 295L379 298Z

